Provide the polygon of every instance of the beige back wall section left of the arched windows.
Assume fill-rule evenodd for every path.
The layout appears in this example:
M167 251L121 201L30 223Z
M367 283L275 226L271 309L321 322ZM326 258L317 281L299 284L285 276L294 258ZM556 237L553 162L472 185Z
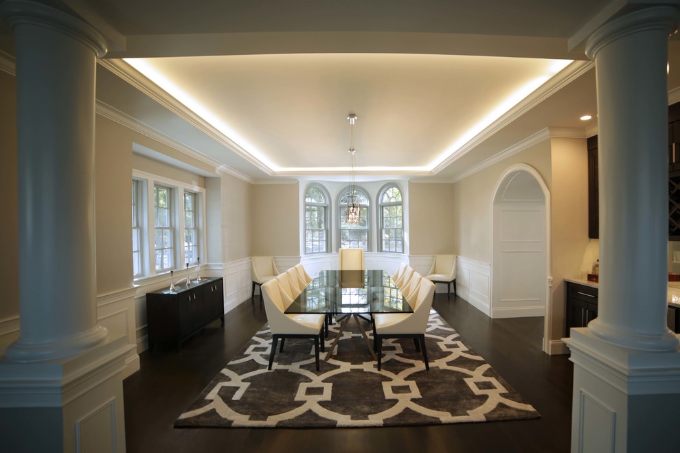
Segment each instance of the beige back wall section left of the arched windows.
M253 185L253 255L299 256L299 206L299 183Z

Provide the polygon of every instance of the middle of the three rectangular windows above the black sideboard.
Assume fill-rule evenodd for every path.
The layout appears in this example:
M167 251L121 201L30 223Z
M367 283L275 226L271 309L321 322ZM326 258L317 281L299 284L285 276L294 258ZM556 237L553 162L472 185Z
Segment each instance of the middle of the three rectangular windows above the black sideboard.
M172 189L170 187L154 185L153 218L156 272L171 270L175 266Z

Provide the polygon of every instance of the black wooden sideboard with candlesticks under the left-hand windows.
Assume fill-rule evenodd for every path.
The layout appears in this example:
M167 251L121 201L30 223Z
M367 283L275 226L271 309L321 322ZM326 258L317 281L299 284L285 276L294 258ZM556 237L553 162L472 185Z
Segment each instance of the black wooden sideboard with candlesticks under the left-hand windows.
M207 277L189 286L176 286L146 293L146 324L149 350L156 343L182 342L217 318L225 325L222 277Z

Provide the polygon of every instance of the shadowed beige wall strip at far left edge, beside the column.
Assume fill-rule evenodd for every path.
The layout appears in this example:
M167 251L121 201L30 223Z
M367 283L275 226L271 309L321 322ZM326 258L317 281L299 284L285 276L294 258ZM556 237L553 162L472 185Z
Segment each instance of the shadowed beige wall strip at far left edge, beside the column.
M0 321L19 314L19 189L16 154L16 80L0 71Z

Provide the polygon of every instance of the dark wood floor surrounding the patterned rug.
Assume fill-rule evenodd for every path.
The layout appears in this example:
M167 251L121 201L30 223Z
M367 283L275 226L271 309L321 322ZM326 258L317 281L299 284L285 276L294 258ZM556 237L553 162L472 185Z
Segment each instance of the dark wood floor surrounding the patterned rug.
M543 318L492 320L438 294L435 310L486 358L541 419L405 428L172 428L174 420L266 321L258 297L186 342L141 353L124 381L128 452L568 452L573 369L541 352Z

